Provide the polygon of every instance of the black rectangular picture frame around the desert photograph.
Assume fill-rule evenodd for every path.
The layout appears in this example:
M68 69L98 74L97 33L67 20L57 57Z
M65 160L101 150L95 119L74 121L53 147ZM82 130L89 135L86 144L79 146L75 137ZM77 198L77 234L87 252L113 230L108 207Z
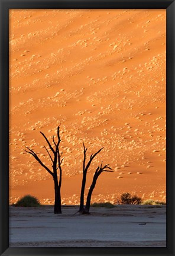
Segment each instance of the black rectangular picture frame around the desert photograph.
M1 255L175 255L175 2L174 0L0 0L1 87L0 87L0 254ZM166 248L9 248L9 9L166 9L167 14L167 247Z

